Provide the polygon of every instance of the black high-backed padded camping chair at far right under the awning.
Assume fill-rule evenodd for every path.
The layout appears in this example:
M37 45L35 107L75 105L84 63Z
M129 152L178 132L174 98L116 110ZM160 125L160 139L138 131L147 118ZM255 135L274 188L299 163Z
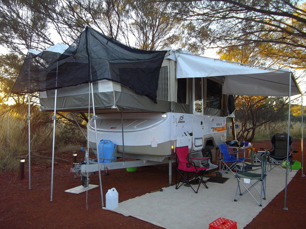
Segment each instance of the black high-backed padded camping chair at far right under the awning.
M297 151L293 150L292 148L292 136L289 136L289 147L290 147L290 153L289 153L289 166L291 170L291 165L293 163L292 160L292 153L297 153ZM271 137L271 147L272 149L269 150L270 154L268 155L268 161L270 164L271 171L276 166L279 166L285 173L286 170L282 167L283 164L286 165L287 161L287 142L288 142L288 134L287 133L276 133ZM272 167L272 165L274 165Z

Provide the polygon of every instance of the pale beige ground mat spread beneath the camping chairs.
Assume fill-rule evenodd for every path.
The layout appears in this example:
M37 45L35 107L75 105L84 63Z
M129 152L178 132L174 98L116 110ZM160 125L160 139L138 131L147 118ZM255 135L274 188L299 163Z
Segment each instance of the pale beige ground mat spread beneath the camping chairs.
M290 171L288 183L296 171ZM223 174L230 178L224 184L208 182L209 188L201 185L198 193L184 185L176 190L174 185L163 188L162 192L147 193L119 203L113 211L165 228L208 228L219 217L234 220L238 228L243 228L284 189L285 175L278 167L268 173L263 207L259 207L249 193L234 202L237 180L228 173ZM257 187L260 190L260 184ZM254 196L259 197L259 194L254 193Z

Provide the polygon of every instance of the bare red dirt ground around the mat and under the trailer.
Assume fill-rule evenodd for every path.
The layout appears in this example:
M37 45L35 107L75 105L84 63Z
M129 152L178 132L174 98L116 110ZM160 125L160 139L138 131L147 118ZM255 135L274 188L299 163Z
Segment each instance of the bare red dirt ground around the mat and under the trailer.
M257 149L269 148L270 144L256 142L253 146ZM294 142L294 149L299 151L294 154L294 159L301 161L300 142ZM71 155L56 156L72 161ZM82 160L82 157L80 155L78 159ZM50 163L37 159L32 159L32 162L31 190L28 186L27 171L24 180L19 179L18 171L0 173L2 228L160 228L134 217L125 217L101 209L99 188L88 192L88 209L86 209L86 192L81 194L64 192L81 184L80 177L73 178L69 173L71 163L56 162L53 202L50 202ZM285 206L283 190L245 228L305 228L306 177L301 175L300 169L288 185L288 210L283 210ZM126 169L111 170L109 176L102 176L102 181L104 203L105 194L112 187L116 188L119 202L122 202L165 187L168 183L168 165L138 167L133 173L127 172ZM99 184L97 174L91 176L90 183ZM257 206L254 205L255 207ZM209 225L203 225L203 228L208 227Z

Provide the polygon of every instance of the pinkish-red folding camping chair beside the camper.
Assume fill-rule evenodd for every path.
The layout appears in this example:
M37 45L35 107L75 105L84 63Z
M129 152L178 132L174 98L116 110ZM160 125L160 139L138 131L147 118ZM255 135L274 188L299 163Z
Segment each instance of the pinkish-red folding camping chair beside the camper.
M175 189L179 189L183 184L189 186L192 190L197 193L201 184L206 188L207 185L203 181L203 175L205 170L209 168L208 157L206 158L191 158L189 157L188 146L176 147L176 173L175 173ZM196 166L191 160L207 161L207 163L201 163L204 166ZM177 180L177 175L180 174L180 180ZM193 179L193 180L192 180ZM182 182L182 183L181 183ZM180 184L181 183L181 184ZM192 185L198 185L195 190Z

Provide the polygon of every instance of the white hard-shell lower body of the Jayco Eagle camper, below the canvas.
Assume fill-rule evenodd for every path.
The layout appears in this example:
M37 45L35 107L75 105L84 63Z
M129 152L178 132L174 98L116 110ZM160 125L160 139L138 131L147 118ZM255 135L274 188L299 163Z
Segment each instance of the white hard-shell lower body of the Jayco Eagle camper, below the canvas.
M225 141L224 117L186 113L99 114L96 118L98 139L109 139L117 145L117 156L163 161L171 156L171 147L188 146L192 152L207 144L214 147ZM122 136L123 135L123 136ZM89 123L89 141L95 146L93 122ZM123 147L124 142L124 147ZM214 144L214 145L212 145Z

